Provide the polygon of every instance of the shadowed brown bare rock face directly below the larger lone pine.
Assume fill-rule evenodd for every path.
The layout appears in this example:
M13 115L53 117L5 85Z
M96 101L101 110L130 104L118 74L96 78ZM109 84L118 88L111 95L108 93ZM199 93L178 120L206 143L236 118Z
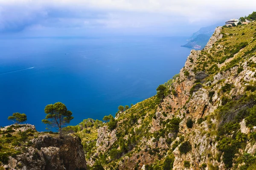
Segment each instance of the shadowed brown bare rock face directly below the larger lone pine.
M33 142L35 143L35 147L43 152L47 162L50 162L50 165L47 165L50 169L86 169L84 151L81 145L81 139L78 137L71 135L64 137L44 135L38 137Z

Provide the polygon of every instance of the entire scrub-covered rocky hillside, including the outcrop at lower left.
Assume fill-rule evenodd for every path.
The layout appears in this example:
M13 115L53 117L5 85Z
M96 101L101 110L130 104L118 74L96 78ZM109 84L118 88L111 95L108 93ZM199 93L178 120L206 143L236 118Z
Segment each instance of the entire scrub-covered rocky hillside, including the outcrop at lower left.
M62 137L1 128L2 169L255 170L255 68L256 22L217 27L156 96L115 118L85 119Z

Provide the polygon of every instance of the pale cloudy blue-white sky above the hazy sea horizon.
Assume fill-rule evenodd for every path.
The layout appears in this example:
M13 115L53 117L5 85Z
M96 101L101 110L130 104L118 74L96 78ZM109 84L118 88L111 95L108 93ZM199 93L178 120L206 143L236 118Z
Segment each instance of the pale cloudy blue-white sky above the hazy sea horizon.
M188 36L253 11L255 0L0 0L0 37Z

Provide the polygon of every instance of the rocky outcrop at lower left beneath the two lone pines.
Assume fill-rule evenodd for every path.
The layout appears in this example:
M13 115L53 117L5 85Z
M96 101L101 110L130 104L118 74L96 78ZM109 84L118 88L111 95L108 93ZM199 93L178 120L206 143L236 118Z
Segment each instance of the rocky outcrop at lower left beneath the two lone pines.
M15 147L15 150L20 152L10 155L2 164L6 169L86 170L87 168L81 139L78 137L41 134L35 131L33 125L12 125L2 128L1 132L6 130L10 131L9 136L30 132L30 139ZM26 133L23 133L23 136L26 136Z

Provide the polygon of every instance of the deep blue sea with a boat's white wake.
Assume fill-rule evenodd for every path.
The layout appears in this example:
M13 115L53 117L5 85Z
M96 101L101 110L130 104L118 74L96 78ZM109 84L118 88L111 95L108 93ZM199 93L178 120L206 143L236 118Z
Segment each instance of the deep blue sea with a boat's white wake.
M77 125L156 94L184 66L186 37L0 39L0 126L12 113L44 131L44 107L62 102Z

